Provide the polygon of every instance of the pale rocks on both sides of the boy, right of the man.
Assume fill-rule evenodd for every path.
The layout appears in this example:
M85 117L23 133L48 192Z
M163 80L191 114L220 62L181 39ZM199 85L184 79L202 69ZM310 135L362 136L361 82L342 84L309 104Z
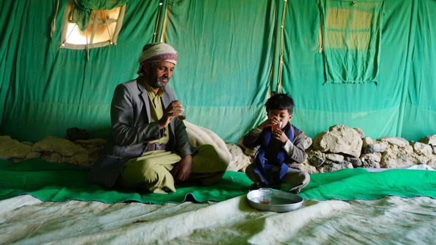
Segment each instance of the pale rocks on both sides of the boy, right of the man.
M231 166L244 170L253 160L239 147L228 144L234 155ZM313 140L306 137L306 160L300 168L309 173L331 172L343 168L398 168L427 164L436 168L436 135L408 142L399 137L382 137L376 140L364 137L359 128L334 125L318 134ZM251 157L249 157L251 155Z

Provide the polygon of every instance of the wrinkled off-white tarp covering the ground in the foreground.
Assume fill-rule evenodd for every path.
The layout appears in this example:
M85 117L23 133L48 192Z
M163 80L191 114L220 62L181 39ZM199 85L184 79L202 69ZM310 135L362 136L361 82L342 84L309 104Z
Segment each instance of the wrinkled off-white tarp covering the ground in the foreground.
M274 213L245 196L219 203L152 205L0 201L2 244L434 244L436 200L306 200Z

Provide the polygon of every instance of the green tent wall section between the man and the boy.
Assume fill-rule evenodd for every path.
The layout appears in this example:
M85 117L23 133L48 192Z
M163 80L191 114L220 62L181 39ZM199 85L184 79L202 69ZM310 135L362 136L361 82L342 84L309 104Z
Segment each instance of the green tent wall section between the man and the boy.
M166 42L178 51L170 85L189 122L227 142L266 116L275 1L168 1Z

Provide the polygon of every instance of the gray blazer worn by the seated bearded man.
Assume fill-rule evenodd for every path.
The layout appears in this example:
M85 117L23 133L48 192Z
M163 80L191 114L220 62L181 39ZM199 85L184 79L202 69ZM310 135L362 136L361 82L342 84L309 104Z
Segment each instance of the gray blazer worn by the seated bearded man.
M162 108L175 100L171 88L166 87L161 97ZM163 136L158 122L150 123L150 104L143 77L119 84L111 103L112 132L104 147L103 154L92 166L88 181L112 187L129 159L139 157L146 151L149 141ZM169 141L167 150L180 156L192 154L186 127L183 121L173 119L168 125Z

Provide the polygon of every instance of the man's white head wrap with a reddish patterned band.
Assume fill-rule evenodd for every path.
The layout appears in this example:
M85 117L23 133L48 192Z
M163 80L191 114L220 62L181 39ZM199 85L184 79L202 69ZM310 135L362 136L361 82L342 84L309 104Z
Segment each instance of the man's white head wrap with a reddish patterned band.
M151 43L144 45L144 47L142 48L141 56L138 60L139 68L136 73L139 75L143 75L142 63L159 61L171 62L176 65L177 51L175 51L171 45L165 43Z

